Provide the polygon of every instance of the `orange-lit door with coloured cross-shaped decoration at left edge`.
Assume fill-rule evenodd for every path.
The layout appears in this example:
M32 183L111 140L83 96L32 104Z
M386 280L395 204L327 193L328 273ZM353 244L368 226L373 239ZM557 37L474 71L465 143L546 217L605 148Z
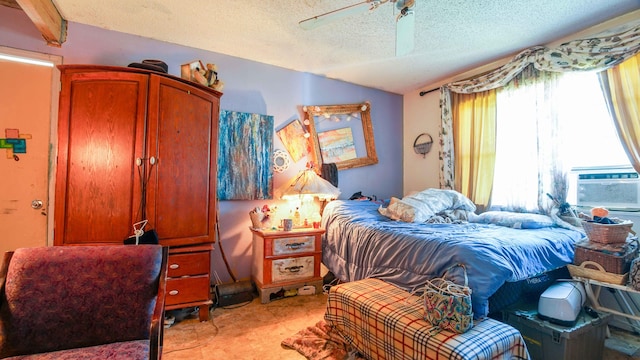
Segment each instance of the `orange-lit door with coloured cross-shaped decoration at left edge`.
M3 55L44 60L48 66L7 60ZM0 47L0 254L53 243L59 57ZM51 155L50 155L51 154ZM51 192L53 195L53 192Z

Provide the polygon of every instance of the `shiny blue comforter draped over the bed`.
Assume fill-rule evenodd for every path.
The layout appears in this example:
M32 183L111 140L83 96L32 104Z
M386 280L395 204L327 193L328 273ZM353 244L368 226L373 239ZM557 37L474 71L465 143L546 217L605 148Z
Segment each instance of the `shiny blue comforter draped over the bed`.
M428 224L394 221L373 202L333 201L323 213L323 263L342 281L379 278L407 291L466 266L476 318L505 282L557 269L573 260L584 235L558 227L512 229L493 224ZM450 272L462 283L461 268Z

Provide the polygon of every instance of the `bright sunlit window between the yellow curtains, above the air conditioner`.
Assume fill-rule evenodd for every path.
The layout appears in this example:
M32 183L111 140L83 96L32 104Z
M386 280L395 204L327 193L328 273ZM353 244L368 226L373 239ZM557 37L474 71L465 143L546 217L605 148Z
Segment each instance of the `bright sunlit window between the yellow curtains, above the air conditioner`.
M551 168L630 166L596 72L536 74L500 89L497 109L494 207L539 210ZM575 203L574 182L566 195Z

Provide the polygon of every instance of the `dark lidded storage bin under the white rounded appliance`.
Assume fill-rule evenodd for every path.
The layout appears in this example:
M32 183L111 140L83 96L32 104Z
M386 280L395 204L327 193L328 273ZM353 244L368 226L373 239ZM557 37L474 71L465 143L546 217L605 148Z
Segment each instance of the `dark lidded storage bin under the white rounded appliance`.
M502 319L518 329L533 360L601 360L611 314L593 318L581 311L571 327L538 317L537 304L518 304L504 310Z

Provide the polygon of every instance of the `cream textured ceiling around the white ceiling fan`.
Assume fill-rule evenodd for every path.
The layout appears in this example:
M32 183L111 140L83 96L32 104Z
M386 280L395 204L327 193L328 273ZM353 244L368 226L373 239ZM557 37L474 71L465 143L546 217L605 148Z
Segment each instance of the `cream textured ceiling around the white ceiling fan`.
M68 21L398 94L640 9L640 0L416 0L415 50L395 56L395 6L313 30L360 0L54 0ZM639 15L640 16L640 15ZM64 45L63 45L64 46Z

